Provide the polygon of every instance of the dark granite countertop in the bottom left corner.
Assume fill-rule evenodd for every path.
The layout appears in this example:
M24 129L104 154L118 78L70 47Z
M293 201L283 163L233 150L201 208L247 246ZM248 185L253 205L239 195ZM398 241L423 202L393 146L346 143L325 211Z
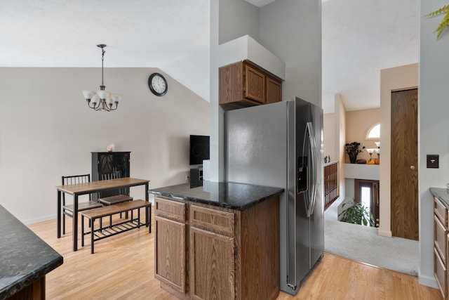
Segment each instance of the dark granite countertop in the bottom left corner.
M63 258L0 205L0 299L62 265Z

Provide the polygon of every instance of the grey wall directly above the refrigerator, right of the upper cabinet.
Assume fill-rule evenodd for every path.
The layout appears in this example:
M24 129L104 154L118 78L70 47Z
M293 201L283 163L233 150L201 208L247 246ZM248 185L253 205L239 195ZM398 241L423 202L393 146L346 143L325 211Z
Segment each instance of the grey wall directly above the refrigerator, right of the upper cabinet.
M260 44L286 63L283 100L321 107L321 1L277 0L260 9Z

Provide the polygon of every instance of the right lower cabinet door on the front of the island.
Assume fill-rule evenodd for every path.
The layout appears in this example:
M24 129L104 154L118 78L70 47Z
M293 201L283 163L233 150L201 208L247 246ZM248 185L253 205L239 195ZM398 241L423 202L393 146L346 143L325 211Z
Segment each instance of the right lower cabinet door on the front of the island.
M190 296L235 299L234 237L190 228Z

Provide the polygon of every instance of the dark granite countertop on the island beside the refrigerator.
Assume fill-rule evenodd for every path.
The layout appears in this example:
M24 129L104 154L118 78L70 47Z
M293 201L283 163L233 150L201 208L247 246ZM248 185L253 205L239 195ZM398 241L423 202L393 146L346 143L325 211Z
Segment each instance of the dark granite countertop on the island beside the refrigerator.
M217 207L243 210L258 202L283 193L283 188L269 188L231 182L204 181L203 186L190 188L189 183L154 188L149 193L179 200L211 204Z

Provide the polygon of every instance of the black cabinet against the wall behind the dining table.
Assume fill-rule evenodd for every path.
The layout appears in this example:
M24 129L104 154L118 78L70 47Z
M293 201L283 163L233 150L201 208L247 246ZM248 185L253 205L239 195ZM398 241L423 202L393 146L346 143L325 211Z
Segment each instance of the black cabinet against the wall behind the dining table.
M99 173L111 173L112 171L120 171L121 177L129 177L130 174L130 153L131 152L92 152L92 181L98 181ZM121 190L123 195L129 195L129 188ZM97 200L98 196L111 197L119 195L119 190L107 190L93 194L93 200Z

